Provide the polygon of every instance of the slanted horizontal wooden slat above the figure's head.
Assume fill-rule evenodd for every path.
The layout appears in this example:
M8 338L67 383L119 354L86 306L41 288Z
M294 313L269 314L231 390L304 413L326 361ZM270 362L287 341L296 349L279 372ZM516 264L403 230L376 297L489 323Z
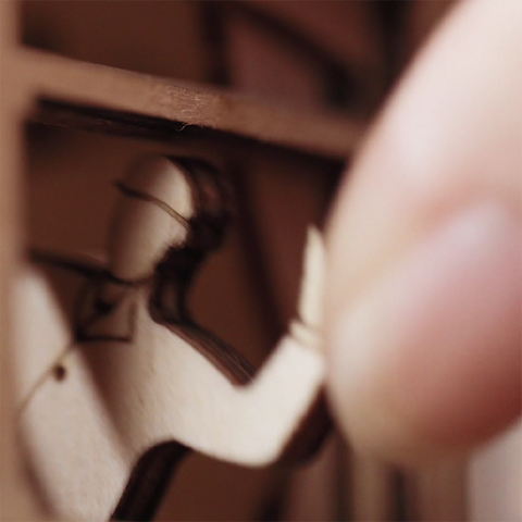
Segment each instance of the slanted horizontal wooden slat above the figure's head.
M147 116L344 158L360 140L363 122L287 110L247 97L34 50L13 53L12 75L37 99ZM116 122L117 124L117 122Z

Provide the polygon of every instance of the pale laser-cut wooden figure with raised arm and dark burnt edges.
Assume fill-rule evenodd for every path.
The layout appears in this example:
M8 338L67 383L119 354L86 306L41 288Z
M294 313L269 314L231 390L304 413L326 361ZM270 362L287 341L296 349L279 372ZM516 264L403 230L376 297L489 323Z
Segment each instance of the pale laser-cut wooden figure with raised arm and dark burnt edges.
M300 316L254 373L186 308L228 221L220 175L154 156L117 186L107 265L39 254L18 285L21 434L44 498L70 520L150 520L187 449L266 465L310 452L327 426L319 233L309 234ZM76 296L72 324L46 266Z

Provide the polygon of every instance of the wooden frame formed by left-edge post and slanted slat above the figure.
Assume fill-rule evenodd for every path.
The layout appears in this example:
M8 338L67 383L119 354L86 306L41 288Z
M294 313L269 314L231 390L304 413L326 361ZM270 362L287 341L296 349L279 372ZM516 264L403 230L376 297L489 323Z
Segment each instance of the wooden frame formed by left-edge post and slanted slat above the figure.
M139 135L169 140L187 136L257 144L334 159L356 147L362 123L337 116L291 112L247 97L181 85L147 75L86 64L24 49L15 41L15 2L2 2L0 49L0 519L41 520L17 446L12 382L12 284L22 258L20 200L24 122ZM2 519L3 520L3 519Z

